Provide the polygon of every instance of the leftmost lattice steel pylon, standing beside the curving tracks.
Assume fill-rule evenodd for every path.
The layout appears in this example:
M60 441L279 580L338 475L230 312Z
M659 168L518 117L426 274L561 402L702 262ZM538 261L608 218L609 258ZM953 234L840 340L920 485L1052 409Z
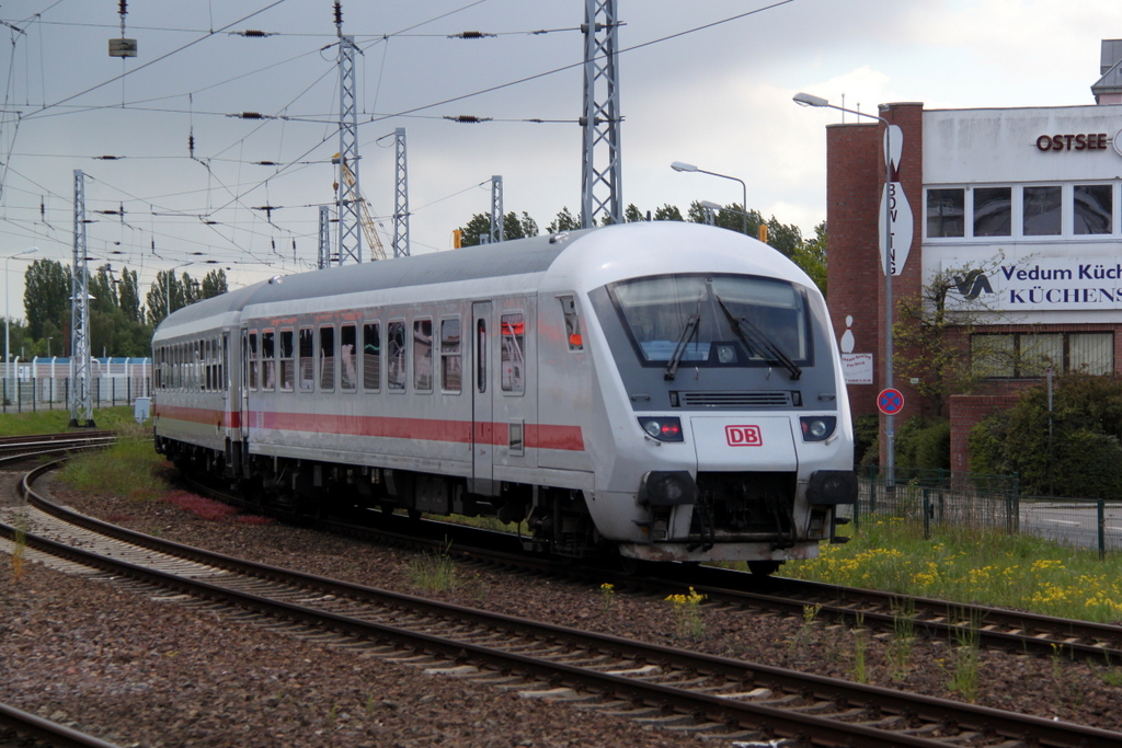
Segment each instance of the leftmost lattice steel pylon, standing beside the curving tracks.
M74 267L71 273L71 426L93 428L90 273L85 243L85 175L74 169Z

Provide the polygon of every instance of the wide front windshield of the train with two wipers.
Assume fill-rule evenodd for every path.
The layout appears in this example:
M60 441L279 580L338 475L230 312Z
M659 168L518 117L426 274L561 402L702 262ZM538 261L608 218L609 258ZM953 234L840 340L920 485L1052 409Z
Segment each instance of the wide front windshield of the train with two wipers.
M636 278L608 288L645 367L812 363L806 295L785 280L739 275Z

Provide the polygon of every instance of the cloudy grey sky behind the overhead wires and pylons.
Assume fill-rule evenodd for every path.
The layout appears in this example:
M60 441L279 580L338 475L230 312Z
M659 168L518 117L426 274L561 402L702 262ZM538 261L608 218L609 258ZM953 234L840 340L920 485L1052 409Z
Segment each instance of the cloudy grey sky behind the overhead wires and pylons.
M71 260L75 169L91 266L137 270L145 292L186 262L196 278L229 268L233 286L311 268L339 150L332 4L135 0L139 54L122 61L108 55L116 1L0 2L0 257L38 248L6 261L12 316L25 260ZM489 212L493 175L506 211L542 230L579 212L583 2L346 0L342 13L362 50L360 182L387 248L396 128L413 253L450 249ZM735 182L670 169L682 160L744 179L749 207L804 236L825 219L825 126L840 114L794 93L862 111L1093 104L1100 41L1122 37L1118 0L618 0L618 17L623 202L741 201ZM449 38L469 30L497 36ZM459 116L491 121L444 119Z

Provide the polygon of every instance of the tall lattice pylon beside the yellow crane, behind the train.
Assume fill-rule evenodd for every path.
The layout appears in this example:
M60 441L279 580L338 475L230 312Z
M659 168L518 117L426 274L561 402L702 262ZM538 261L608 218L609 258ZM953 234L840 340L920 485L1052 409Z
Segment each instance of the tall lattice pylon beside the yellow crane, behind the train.
M339 35L339 265L362 261L362 204L358 183L358 103L355 96L355 37ZM350 172L351 178L346 178Z

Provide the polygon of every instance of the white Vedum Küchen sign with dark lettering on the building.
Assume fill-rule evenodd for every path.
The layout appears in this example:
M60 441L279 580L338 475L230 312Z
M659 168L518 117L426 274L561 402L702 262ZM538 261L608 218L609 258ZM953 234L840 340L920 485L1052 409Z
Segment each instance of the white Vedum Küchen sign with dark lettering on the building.
M984 271L977 260L949 259L951 297L1003 312L1122 310L1122 261L1112 257L1042 257L1005 261Z

